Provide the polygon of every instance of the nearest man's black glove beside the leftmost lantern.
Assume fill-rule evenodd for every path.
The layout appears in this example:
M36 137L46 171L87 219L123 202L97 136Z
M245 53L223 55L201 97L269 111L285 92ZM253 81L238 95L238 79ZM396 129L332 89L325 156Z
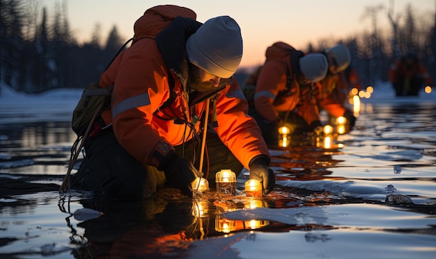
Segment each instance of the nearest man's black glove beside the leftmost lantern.
M166 159L162 167L166 181L172 187L177 188L189 197L192 197L191 183L196 177L203 176L203 173L199 172L192 162L180 158L178 154L171 152L169 158Z

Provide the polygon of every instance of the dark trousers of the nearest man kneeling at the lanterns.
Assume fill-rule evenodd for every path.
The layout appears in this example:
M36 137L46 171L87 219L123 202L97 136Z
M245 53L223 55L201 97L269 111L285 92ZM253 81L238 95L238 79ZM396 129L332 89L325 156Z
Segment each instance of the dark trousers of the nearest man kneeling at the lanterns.
M205 156L203 168L210 166L208 181L211 186L215 183L215 173L221 169L232 169L235 174L241 172L242 164L224 146L215 132L208 133L206 143L209 156ZM187 142L176 147L176 153L180 156L184 154L187 160L191 160L194 152L201 151L198 147L201 147L201 143ZM142 197L150 194L147 167L120 146L111 129L96 137L89 137L84 149L86 156L77 173L71 176L72 189L91 190L109 197ZM199 162L198 156L194 161L196 168ZM206 171L203 169L205 174Z

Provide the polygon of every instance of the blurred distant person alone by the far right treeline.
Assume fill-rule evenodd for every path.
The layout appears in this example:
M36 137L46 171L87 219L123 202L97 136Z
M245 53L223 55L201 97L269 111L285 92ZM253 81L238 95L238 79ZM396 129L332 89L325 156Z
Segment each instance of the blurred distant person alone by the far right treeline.
M394 86L397 97L416 96L423 83L432 83L426 67L412 52L392 63L389 67L389 81Z

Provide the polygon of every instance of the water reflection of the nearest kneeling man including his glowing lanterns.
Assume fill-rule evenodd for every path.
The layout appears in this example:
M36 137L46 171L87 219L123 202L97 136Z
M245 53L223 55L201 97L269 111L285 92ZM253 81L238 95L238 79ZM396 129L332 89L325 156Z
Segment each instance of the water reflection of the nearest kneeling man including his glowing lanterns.
M188 253L186 249L193 241L269 224L265 220L258 221L262 224L255 226L254 221L233 221L235 228L222 228L219 212L222 212L223 205L216 205L213 199L203 199L201 201L204 203L199 204L195 199L187 201L167 198L80 201L84 208L103 214L77 224L79 228L84 228L84 238L73 251L75 258L89 258L90 255L92 258L159 258L168 253L182 256ZM248 198L242 202L226 203L234 210L253 208L253 204L254 199ZM255 204L257 207L269 206L267 201L262 200Z

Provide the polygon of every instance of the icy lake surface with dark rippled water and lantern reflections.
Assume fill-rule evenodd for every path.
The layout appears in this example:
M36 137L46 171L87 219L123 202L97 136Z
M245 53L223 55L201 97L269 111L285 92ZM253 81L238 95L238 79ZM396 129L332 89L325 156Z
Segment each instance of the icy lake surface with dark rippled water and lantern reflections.
M244 171L235 197L142 200L59 194L81 90L1 94L1 258L436 258L435 91L378 85L351 133L271 149L267 197Z

